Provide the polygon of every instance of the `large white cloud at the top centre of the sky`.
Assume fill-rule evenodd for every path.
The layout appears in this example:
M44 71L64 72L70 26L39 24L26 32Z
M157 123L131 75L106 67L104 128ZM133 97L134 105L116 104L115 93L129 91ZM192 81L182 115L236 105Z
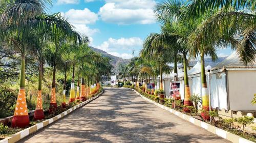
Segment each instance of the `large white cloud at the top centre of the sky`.
M106 0L98 14L101 19L117 24L151 24L156 22L153 0Z

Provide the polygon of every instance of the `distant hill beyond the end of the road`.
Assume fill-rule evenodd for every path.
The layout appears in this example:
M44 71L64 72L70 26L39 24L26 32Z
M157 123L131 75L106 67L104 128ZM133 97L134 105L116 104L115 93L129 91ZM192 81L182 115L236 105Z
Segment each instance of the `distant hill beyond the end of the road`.
M119 57L114 56L114 55L112 55L112 54L109 54L109 53L107 53L107 52L105 52L105 51L103 51L103 50L101 50L101 49L97 49L97 48L94 48L94 47L92 47L92 46L90 46L90 48L91 48L92 50L96 51L96 52L101 53L103 56L109 57L109 58L111 59L111 64L112 64L112 66L114 67L114 68L112 69L112 72L114 72L116 75L118 75L118 73L119 73L119 70L118 70L118 65L119 65L119 64L124 64L124 65L126 65L127 63L130 62L130 60L119 58Z

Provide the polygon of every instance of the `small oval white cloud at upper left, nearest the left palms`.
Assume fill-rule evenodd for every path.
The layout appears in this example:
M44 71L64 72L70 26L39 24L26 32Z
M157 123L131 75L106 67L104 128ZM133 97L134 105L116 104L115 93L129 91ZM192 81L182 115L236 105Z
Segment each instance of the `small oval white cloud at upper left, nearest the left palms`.
M76 24L93 24L98 20L98 15L87 8L83 10L70 9L62 14L68 18L69 22Z

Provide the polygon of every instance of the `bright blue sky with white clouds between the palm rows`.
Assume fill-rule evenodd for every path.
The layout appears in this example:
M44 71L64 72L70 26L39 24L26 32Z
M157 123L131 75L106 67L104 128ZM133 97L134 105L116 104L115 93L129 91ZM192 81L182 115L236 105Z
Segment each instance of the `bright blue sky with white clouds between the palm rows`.
M90 37L90 45L124 59L135 56L143 40L159 33L154 0L54 0L50 12L61 12L76 30ZM218 50L220 56L230 49Z

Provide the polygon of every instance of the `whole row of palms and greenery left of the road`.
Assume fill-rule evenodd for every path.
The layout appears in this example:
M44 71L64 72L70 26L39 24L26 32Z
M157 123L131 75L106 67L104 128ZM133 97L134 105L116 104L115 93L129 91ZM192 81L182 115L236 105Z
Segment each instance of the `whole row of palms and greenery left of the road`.
M112 69L109 58L90 49L87 36L60 13L47 13L51 5L0 1L0 118L14 114L13 127L29 124L29 110L41 116L42 110L65 107L66 98L86 100Z

